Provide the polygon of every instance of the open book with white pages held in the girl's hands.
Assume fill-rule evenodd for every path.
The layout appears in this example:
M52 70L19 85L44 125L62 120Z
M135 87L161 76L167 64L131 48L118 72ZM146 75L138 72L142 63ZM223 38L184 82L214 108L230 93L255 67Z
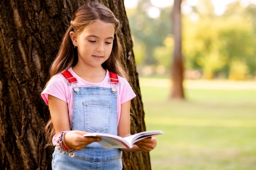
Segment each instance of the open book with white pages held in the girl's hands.
M87 133L83 136L100 137L101 142L97 143L101 144L104 148L132 148L132 144L138 142L141 139L161 134L164 133L162 131L144 131L124 138L107 133Z

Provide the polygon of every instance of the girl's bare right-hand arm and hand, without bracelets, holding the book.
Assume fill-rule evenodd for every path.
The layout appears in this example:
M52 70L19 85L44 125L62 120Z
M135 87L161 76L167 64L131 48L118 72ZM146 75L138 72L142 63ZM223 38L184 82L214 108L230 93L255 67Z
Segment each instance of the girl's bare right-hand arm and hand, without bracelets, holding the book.
M121 104L121 115L117 128L117 135L121 137L130 136L130 100ZM135 152L142 150L149 152L157 145L157 139L155 137L142 139L136 142L131 149L121 149L126 152Z

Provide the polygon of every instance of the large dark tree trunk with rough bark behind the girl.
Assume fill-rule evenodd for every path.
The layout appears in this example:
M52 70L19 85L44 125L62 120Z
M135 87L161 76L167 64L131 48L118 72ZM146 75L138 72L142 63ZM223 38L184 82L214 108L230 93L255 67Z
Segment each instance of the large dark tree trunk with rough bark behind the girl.
M0 169L49 170L53 147L45 148L49 119L40 93L74 11L92 0L2 0L0 2ZM145 131L144 110L123 0L102 0L121 22L122 64L137 97L131 133ZM124 153L124 169L149 170L148 153Z

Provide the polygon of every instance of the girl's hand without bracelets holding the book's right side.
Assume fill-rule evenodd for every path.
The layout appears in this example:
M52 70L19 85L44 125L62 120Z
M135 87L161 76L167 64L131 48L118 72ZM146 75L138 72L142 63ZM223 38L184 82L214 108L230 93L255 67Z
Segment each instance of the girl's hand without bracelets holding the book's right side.
M155 137L148 137L135 143L144 152L149 152L157 146L157 139Z

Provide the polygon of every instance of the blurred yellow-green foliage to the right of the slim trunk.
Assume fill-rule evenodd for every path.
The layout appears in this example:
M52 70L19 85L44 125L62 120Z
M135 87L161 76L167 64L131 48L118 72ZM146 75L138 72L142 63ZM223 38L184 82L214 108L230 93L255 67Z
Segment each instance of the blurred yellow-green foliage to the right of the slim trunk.
M243 24L237 24L240 22ZM256 36L249 21L238 16L214 20L203 18L200 22L185 20L184 27L183 51L187 68L202 68L205 78L213 78L218 72L234 75L240 69L243 76L235 79L245 79L247 73L254 73L256 65L252 58L256 55L253 45ZM234 67L234 62L248 65L248 68Z

